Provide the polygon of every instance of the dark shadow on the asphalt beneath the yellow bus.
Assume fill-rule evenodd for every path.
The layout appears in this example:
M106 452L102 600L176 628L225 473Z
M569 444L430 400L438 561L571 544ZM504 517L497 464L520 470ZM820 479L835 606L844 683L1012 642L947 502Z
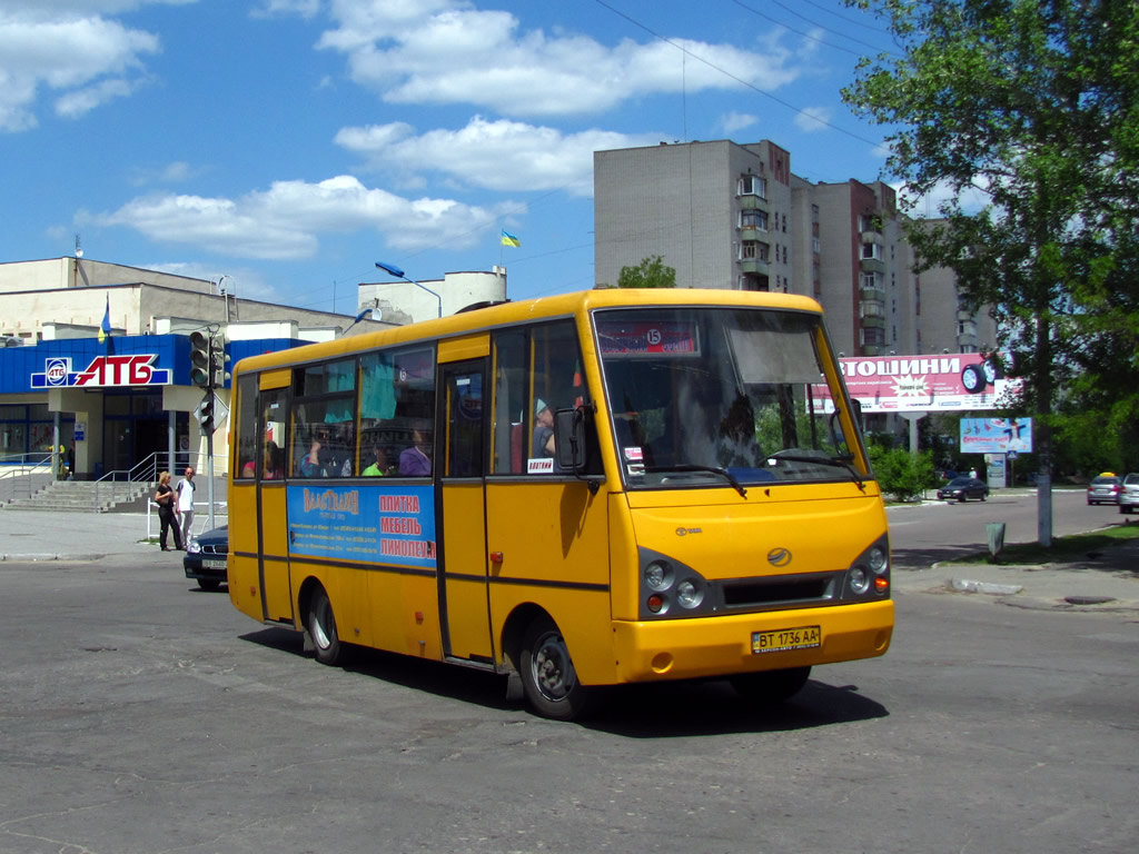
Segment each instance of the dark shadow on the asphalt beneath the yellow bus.
M241 640L311 658L302 635L288 629L263 629ZM344 670L412 691L500 712L523 712L524 704L506 698L506 678L394 652L355 648ZM858 685L831 685L810 680L784 704L762 706L736 693L723 680L620 685L601 691L597 709L576 724L624 738L682 738L731 733L789 732L887 717L882 704L860 693Z

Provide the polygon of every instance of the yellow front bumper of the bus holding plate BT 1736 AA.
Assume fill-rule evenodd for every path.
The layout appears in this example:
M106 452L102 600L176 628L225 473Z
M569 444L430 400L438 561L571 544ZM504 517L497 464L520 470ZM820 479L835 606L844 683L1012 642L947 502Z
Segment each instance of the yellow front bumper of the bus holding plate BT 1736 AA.
M810 631L816 627L818 634ZM890 599L693 619L614 622L615 682L730 676L872 658L890 648L893 629ZM808 643L817 646L796 648Z

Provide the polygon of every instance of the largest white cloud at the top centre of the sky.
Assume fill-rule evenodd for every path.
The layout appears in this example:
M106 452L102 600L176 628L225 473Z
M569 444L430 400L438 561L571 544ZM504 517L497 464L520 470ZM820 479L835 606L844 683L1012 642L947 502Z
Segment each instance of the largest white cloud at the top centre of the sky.
M772 90L798 74L773 43L763 52L686 39L609 47L585 35L519 32L507 11L446 0L335 0L331 15L338 28L318 47L347 55L352 79L393 104L573 115L641 95L737 89L738 81Z

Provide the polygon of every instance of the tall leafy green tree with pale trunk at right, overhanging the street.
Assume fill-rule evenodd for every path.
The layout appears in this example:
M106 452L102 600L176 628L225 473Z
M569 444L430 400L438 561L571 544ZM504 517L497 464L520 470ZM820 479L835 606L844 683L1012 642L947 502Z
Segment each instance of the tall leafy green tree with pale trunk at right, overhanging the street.
M846 0L900 54L865 58L843 97L890 128L919 270L952 269L991 306L1024 380L1040 474L1065 395L1104 428L1139 416L1139 15L1133 0ZM980 204L970 198L980 196ZM1040 540L1051 542L1041 490Z

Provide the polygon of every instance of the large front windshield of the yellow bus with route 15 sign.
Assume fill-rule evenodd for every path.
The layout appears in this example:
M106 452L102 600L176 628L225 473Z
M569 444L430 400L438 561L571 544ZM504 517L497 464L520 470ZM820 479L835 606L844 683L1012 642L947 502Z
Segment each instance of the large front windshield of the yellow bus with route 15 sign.
M595 323L629 488L868 476L858 437L823 414L842 394L827 388L818 315L652 307L598 311Z

